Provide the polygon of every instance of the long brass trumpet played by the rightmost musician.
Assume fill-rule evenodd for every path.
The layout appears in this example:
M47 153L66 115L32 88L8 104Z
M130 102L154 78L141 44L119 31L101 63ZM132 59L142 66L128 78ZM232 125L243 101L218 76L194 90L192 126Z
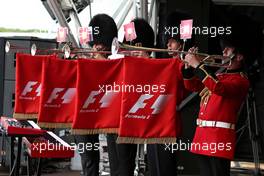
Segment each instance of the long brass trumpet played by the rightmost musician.
M158 49L158 48L148 48L148 47L139 47L139 46L132 46L124 43L120 43L117 38L114 38L112 42L112 54L126 54L129 51L148 51L148 52L172 52L172 53L179 53L179 54L195 54L202 57L201 62L204 65L212 66L212 67L229 67L234 54L231 56L222 56L222 55L209 55L207 53L192 53L188 51L179 51L179 50L169 50L169 49ZM184 61L184 60L183 60Z

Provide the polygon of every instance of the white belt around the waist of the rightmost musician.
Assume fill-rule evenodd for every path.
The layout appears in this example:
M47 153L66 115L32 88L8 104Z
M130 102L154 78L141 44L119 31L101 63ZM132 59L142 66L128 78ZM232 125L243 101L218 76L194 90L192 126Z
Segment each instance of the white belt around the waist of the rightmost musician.
M235 124L227 123L227 122L220 122L220 121L209 121L209 120L201 120L197 119L196 124L199 127L217 127L217 128L227 128L227 129L235 129Z

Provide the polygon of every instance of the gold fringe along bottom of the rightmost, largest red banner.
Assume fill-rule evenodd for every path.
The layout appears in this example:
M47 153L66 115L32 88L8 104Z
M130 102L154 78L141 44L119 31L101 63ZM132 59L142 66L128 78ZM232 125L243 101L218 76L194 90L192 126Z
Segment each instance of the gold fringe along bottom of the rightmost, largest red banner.
M118 144L168 144L176 143L176 137L161 137L161 138L135 138L135 137L118 137Z

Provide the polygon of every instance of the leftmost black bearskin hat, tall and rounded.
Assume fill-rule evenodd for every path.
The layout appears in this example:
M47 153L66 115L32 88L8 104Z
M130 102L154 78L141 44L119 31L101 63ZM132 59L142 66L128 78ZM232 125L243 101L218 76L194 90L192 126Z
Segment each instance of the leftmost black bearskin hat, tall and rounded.
M89 26L93 28L93 41L89 44L91 46L103 44L110 49L113 38L117 37L117 27L113 18L106 14L97 14L91 19Z

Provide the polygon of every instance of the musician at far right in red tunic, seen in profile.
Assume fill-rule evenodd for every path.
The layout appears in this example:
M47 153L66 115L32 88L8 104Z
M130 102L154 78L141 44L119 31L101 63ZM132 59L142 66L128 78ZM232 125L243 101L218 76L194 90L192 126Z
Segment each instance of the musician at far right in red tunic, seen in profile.
M233 56L231 65L222 73L212 72L198 55L185 56L185 61L192 67L182 70L185 87L200 91L201 96L191 152L198 155L202 176L230 175L230 161L235 152L237 114L250 85L243 73L243 63L253 56L248 43L252 45L254 42L244 40L244 34L250 33L236 24L232 26L232 34L221 40L223 56ZM195 48L189 51L195 52Z

